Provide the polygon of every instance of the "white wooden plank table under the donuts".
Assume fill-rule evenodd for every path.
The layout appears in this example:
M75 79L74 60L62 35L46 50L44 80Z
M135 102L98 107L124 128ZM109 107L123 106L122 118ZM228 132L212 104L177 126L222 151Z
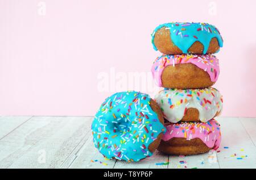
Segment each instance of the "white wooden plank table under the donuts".
M0 168L256 168L256 118L216 118L217 151L166 156L156 151L137 163L105 160L92 143L92 117L0 117ZM169 163L166 163L169 162Z

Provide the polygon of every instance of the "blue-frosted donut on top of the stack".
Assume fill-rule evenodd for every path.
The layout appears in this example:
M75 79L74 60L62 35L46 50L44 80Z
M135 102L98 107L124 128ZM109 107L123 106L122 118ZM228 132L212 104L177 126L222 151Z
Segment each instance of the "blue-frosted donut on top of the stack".
M166 55L212 54L223 46L220 32L208 23L165 23L151 36L154 49Z

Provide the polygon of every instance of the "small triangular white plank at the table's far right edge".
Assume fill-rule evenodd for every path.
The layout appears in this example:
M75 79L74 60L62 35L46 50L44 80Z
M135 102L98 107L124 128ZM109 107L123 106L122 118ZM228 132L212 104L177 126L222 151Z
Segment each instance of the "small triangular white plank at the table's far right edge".
M256 118L239 118L246 132L256 146Z

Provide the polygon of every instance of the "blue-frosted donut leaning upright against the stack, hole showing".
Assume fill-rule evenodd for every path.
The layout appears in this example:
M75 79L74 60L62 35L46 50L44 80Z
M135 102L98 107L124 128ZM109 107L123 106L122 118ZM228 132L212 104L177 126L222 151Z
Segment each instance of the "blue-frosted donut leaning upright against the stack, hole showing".
M92 122L94 146L106 158L137 162L158 148L164 119L158 104L137 91L105 99Z

